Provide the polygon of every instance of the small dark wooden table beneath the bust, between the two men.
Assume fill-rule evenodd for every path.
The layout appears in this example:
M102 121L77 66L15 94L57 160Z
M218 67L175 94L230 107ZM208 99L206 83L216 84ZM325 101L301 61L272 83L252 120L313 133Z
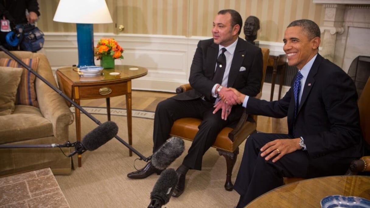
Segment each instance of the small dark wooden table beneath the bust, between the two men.
M280 100L281 96L281 89L284 84L284 77L285 77L285 64L286 64L286 55L285 53L281 52L274 52L270 51L269 54L269 60L267 66L272 67L272 80L271 80L271 95L270 95L270 101L272 101L272 98L274 96L274 88L275 88L275 79L276 79L276 73L277 69L280 68L280 78L279 78L279 97L278 100Z

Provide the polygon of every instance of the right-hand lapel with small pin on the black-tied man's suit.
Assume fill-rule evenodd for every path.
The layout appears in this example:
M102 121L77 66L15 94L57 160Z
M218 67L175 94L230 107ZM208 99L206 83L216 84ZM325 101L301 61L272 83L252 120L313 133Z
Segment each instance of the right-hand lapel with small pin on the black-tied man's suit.
M239 69L242 66L244 56L248 53L247 51L247 43L245 40L238 38L238 43L236 43L235 51L234 51L234 56L232 58L232 63L229 71L229 77L228 77L228 87L232 87L235 80L236 76L239 73Z

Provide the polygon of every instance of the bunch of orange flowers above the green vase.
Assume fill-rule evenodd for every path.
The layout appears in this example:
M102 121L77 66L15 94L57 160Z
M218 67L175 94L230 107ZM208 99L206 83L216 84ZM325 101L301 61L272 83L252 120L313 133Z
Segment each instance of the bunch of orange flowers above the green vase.
M123 59L123 48L118 45L114 38L101 38L94 50L96 60L101 60L102 56L111 56L114 59Z

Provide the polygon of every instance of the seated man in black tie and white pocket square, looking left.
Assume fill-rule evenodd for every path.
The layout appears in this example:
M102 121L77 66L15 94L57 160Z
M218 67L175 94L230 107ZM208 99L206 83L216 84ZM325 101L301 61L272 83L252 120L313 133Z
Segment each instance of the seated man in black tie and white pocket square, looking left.
M188 154L176 170L179 182L172 194L174 197L184 191L186 172L189 169L201 170L203 154L215 142L217 134L225 126L238 121L242 114L242 105L226 104L218 95L232 97L234 93L224 91L226 87L236 88L249 96L255 96L260 91L262 52L238 37L242 24L242 17L237 11L219 11L213 22L213 38L199 41L195 51L189 76L193 89L162 101L155 110L153 152L169 138L175 120L184 117L203 120ZM215 105L222 111L213 114ZM149 162L127 177L145 178L154 172L160 173Z

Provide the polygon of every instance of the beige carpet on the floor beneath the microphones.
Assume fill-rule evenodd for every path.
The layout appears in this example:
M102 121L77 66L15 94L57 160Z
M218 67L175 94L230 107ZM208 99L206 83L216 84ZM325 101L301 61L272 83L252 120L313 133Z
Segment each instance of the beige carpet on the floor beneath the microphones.
M102 123L107 121L105 115L93 115ZM97 127L90 118L85 115L81 117L81 135ZM125 141L127 141L126 119L125 116L111 116L111 120L119 127L118 136ZM145 157L149 157L153 145L153 120L132 118L132 131L133 147ZM70 126L70 141L75 141L75 124ZM190 141L185 141L184 153L170 165L170 168L176 169L181 164L190 145ZM243 149L244 143L240 145L240 154L233 170L233 182L240 166ZM134 164L137 168L146 164L141 160L135 162L136 158L139 157L135 154L129 157L128 148L113 138L97 150L85 152L80 168L77 167L77 157L74 156L75 170L72 174L56 175L55 178L71 208L148 207L150 192L159 175L154 174L141 180L127 178L127 173L135 170ZM202 169L202 171L189 170L186 175L185 192L179 198L171 197L168 204L163 207L234 207L239 195L236 191L224 189L226 161L218 155L215 148L210 148L204 155Z

